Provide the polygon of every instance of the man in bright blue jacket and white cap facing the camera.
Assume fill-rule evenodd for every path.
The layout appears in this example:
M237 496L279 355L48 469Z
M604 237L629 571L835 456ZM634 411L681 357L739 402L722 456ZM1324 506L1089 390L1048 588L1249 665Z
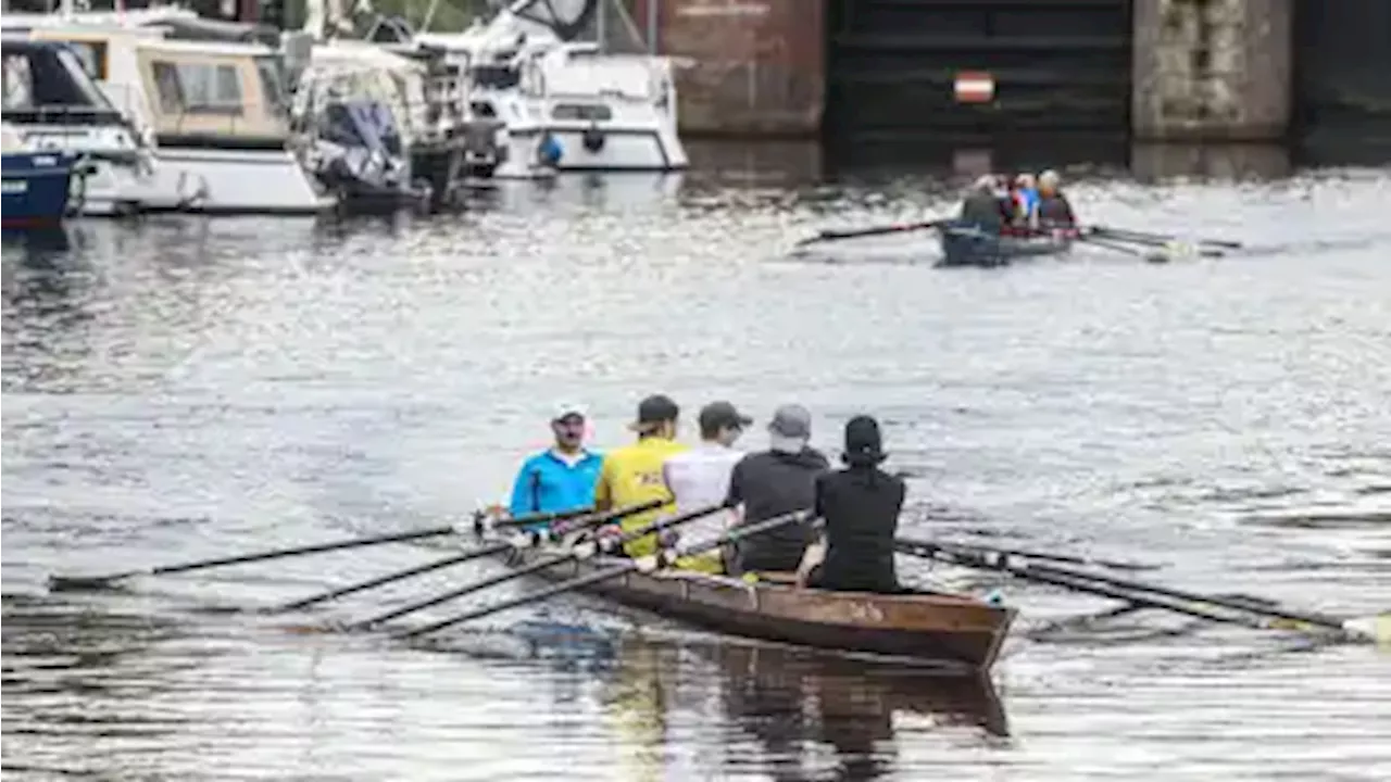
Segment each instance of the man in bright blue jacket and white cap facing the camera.
M561 405L551 416L555 442L522 462L512 483L512 518L559 513L586 508L594 500L594 483L604 458L584 447L584 408ZM544 529L533 525L527 529Z

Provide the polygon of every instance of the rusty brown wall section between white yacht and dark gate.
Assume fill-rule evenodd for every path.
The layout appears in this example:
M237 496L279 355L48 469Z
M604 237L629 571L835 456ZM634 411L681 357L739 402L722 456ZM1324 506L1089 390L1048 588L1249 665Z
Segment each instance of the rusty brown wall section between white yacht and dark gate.
M661 54L690 58L676 89L683 134L814 136L825 102L819 0L640 0Z

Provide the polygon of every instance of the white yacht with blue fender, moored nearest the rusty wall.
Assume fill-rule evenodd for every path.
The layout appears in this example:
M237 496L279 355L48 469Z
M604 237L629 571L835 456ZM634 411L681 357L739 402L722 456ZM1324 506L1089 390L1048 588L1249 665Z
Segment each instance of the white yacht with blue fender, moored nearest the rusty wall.
M672 60L572 40L595 11L605 18L601 1L626 21L616 0L516 0L460 33L401 42L442 51L472 82L470 113L502 122L506 154L495 177L687 167ZM389 42L381 29L369 39Z

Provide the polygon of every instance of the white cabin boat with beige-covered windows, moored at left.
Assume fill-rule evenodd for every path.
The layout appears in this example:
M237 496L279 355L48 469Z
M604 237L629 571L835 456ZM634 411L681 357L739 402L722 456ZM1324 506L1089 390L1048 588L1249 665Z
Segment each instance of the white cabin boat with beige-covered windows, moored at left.
M61 42L78 53L153 157L139 198L108 196L97 178L89 185L89 203L111 202L117 212L216 214L312 214L334 206L306 171L291 134L289 97L274 50L168 39L157 22L192 17L186 11L108 17L7 14L3 19L10 33L25 31L31 40ZM71 142L67 147L86 152Z

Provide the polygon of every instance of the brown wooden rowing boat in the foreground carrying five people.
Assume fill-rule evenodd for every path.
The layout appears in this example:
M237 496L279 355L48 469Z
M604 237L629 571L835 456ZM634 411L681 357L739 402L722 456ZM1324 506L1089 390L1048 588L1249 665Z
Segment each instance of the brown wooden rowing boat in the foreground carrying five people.
M552 547L513 548L506 562L520 568L555 554ZM591 557L537 575L559 582L623 561ZM975 671L995 664L1015 616L1013 608L971 597L800 589L787 575L776 573L764 573L750 583L679 569L633 570L586 589L623 605L727 635Z

